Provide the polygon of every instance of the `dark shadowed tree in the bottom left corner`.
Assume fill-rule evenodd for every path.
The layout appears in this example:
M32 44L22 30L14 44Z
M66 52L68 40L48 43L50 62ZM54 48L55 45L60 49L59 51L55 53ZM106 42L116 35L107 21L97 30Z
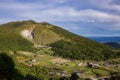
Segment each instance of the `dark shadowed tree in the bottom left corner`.
M0 80L20 80L23 76L15 69L13 59L6 53L0 53Z

